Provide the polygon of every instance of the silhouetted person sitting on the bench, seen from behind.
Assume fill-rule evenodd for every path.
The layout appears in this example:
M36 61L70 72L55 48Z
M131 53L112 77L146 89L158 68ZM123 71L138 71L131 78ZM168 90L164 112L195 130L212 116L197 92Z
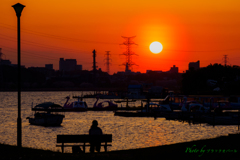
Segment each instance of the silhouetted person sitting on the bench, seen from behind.
M89 129L89 135L102 135L101 128L98 127L98 122L96 120L92 121L92 126ZM96 151L100 152L101 142L91 142L90 143L90 152L94 153L94 149L96 147Z

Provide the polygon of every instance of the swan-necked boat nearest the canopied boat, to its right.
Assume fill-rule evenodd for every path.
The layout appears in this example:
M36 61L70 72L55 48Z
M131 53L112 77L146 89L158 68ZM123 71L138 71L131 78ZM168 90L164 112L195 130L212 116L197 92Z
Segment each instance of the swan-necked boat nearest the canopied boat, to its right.
M64 111L75 111L75 112L81 112L81 111L87 111L87 103L82 101L82 97L73 97L77 98L77 101L69 103L70 97L66 97L66 102L63 105Z

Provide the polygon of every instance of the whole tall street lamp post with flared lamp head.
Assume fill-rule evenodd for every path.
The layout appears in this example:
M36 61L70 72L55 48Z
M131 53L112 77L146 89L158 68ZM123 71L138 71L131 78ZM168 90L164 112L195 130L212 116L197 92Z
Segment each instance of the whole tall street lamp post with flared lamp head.
M22 147L22 119L21 119L21 50L20 50L20 17L24 5L17 3L12 6L17 15L18 25L18 118L17 118L17 146Z

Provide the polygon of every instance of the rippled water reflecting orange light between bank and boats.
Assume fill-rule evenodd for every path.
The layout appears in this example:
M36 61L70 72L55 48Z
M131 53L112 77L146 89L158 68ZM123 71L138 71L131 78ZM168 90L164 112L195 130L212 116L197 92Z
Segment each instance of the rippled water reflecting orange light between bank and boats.
M31 105L54 102L63 106L66 96L82 96L91 92L22 92L22 145L37 149L60 151L56 147L58 134L88 134L92 120L99 122L104 134L112 134L112 147L108 150L126 150L188 142L214 138L237 133L237 126L210 126L207 124L189 125L169 121L165 118L119 117L112 111L66 112L60 127L30 125L28 119L33 115ZM84 99L92 107L96 99ZM74 101L74 99L71 99ZM99 102L104 101L100 100ZM118 104L124 106L125 104ZM132 106L140 106L137 101ZM17 145L17 92L0 92L0 143ZM88 149L87 149L88 150ZM102 149L103 150L103 149ZM70 148L66 148L71 152Z

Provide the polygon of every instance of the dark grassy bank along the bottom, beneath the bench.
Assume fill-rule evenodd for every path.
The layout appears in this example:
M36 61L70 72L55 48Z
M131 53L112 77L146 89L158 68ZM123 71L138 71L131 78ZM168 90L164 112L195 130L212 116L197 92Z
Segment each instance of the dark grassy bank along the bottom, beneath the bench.
M192 150L190 150L192 148ZM102 149L103 150L103 149ZM223 151L225 150L225 151ZM204 152L205 151L205 152ZM225 152L225 153L224 153ZM239 159L240 134L142 149L72 154L0 144L1 160Z

